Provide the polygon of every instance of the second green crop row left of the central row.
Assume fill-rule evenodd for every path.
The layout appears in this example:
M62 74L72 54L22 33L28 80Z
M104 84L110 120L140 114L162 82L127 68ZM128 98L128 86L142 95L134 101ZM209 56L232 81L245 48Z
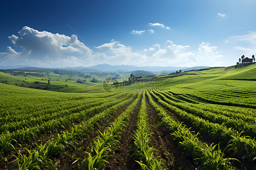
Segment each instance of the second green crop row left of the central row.
M65 150L66 147L72 146L73 142L85 135L89 130L92 130L94 126L106 118L109 115L113 115L117 110L124 105L131 103L134 100L134 95L128 100L124 100L117 105L114 105L108 109L105 109L101 113L93 116L91 119L83 122L80 125L75 125L70 130L63 132L63 134L57 134L53 136L51 140L48 140L44 145L38 145L34 150L28 150L27 154L19 154L17 157L17 165L19 170L27 169L43 169L49 164L58 153Z

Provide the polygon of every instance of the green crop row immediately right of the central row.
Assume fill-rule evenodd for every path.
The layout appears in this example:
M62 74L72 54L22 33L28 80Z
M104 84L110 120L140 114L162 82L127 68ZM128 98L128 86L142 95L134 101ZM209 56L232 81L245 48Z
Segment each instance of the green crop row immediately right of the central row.
M192 134L183 124L175 121L161 106L157 105L149 93L147 93L147 97L149 104L157 111L159 117L162 118L162 121L170 130L171 135L174 136L174 140L179 142L179 147L184 150L187 157L192 158L196 166L205 170L230 169L230 158L223 158L224 152L221 152L219 145L215 150L217 145L209 146L202 143L198 140L197 134Z

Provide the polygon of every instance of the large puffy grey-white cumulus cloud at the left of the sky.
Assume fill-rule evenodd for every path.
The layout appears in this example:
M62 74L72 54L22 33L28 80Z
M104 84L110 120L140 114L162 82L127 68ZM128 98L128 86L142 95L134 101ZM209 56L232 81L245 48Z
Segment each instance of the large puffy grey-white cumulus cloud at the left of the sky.
M13 45L21 48L21 52L18 53L7 47L6 52L0 54L5 59L1 62L9 62L12 65L17 63L14 55L20 57L18 64L26 64L26 61L30 60L37 65L38 63L45 65L46 62L50 62L48 65L55 64L54 61L65 61L70 56L77 56L81 61L87 60L89 63L95 57L91 49L77 40L77 35L53 34L34 30L28 26L24 26L18 34L18 36L9 36L9 39Z

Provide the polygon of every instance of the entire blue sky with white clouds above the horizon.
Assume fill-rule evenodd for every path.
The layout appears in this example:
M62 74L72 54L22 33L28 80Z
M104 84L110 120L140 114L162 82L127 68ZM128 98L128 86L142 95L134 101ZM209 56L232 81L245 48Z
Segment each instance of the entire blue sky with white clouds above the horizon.
M241 55L256 55L255 6L253 0L2 0L0 65L234 65Z

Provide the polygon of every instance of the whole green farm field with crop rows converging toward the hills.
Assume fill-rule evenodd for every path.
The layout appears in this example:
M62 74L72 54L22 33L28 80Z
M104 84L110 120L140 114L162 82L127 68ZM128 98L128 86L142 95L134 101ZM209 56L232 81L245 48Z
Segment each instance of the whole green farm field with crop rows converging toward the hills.
M256 64L81 88L0 83L0 170L256 170Z

